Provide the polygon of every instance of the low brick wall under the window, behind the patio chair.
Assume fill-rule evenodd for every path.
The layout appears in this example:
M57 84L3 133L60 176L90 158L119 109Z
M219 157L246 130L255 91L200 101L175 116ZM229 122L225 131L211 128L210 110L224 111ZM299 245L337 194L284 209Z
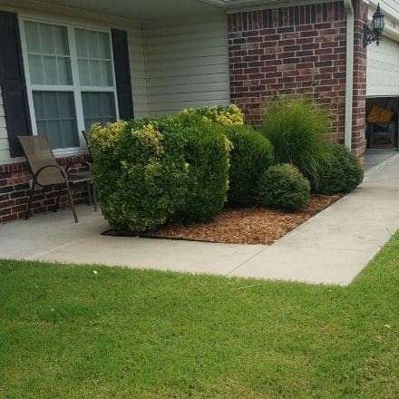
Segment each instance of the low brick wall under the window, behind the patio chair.
M58 159L60 165L69 165L73 162L87 161L86 155ZM26 203L29 195L29 180L33 176L29 173L26 163L0 165L0 223L24 218ZM72 185L75 203L87 200L87 185ZM54 209L57 188L54 186L35 190L32 212L40 213ZM60 199L60 208L68 205L66 190L63 190Z

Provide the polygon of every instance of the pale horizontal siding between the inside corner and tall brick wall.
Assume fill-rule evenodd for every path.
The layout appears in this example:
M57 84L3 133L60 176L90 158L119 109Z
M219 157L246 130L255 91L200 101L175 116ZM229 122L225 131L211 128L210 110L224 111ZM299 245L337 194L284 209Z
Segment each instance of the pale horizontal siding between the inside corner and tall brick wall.
M226 15L145 24L151 115L229 103Z

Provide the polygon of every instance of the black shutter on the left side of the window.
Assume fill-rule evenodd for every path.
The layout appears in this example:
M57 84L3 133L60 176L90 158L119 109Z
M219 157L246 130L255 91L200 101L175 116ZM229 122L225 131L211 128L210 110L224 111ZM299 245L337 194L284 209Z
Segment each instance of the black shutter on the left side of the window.
M0 85L5 107L5 123L12 157L24 154L16 135L31 134L31 120L24 80L18 17L0 11Z

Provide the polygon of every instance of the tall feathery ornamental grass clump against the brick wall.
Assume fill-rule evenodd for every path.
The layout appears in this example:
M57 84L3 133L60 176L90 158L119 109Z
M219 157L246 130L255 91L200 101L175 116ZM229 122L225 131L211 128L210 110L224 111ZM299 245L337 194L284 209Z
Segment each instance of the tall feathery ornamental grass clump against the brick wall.
M277 98L268 104L262 132L273 144L276 163L292 163L317 185L320 161L328 159L329 112L306 97Z

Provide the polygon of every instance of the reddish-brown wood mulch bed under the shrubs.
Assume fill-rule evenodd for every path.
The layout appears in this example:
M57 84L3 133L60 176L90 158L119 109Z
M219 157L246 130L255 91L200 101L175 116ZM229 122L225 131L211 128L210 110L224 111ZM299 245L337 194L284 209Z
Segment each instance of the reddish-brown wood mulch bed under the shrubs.
M339 195L315 194L305 209L296 212L260 206L225 208L208 223L170 224L152 230L149 236L229 244L271 244L339 198Z

